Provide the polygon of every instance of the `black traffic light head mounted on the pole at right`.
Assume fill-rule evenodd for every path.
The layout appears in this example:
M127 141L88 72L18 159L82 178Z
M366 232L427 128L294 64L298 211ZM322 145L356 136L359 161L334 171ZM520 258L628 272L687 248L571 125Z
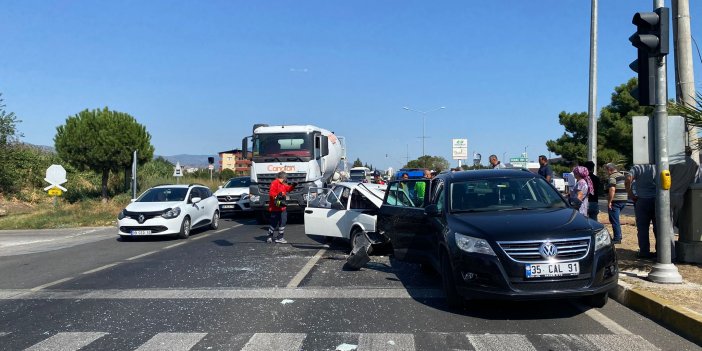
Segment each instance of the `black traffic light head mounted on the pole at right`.
M667 7L659 7L654 12L637 12L631 20L636 33L629 41L638 55L629 67L639 74L639 85L631 95L642 106L656 104L656 70L659 58L668 54L669 14Z

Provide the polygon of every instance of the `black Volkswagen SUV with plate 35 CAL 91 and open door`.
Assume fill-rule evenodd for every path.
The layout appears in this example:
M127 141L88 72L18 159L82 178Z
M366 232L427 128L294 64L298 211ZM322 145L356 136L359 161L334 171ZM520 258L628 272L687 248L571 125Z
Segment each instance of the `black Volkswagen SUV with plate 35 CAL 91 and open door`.
M392 182L377 227L397 259L441 273L451 306L463 298L585 297L601 307L617 284L609 231L524 170Z

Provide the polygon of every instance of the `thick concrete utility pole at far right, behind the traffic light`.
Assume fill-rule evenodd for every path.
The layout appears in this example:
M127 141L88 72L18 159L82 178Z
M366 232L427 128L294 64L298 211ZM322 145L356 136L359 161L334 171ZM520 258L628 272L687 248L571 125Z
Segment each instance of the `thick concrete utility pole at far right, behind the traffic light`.
M673 45L675 51L675 100L688 107L695 106L695 75L692 66L690 34L690 1L672 0ZM698 129L687 127L687 141L692 148L692 159L699 162Z

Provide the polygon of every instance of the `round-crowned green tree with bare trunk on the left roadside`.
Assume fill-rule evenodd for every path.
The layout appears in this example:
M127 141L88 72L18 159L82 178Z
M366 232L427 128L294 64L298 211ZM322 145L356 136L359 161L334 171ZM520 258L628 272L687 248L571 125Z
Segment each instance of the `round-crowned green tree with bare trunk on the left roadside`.
M134 150L142 165L154 154L146 128L129 114L107 107L68 117L65 125L56 128L54 144L59 156L72 166L102 175L103 201L107 201L110 171L129 167Z

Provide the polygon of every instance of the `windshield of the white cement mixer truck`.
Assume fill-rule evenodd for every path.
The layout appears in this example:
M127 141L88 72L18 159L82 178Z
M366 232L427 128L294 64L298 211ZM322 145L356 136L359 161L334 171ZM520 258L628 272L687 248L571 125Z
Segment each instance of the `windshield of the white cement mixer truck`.
M253 141L254 157L310 157L314 142L312 134L258 134Z

